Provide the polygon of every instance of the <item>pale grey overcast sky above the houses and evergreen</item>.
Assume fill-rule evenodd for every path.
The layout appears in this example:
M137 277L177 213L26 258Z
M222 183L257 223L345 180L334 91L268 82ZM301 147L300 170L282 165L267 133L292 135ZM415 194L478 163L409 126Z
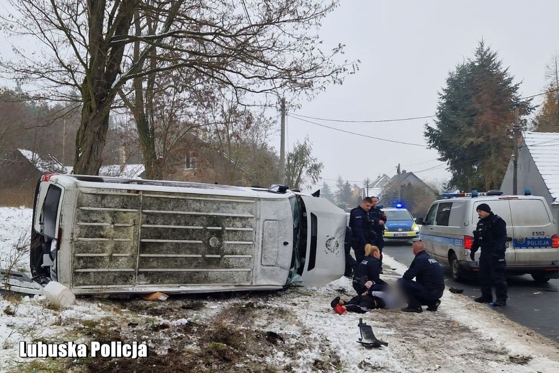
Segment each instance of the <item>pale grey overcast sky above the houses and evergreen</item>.
M384 120L433 115L448 72L471 57L481 39L498 51L523 96L544 91L545 67L559 50L558 1L342 0L323 22L325 44L344 43L345 58L361 68L294 113L342 120ZM534 103L539 103L539 98ZM375 124L311 121L364 135L425 144L433 119ZM312 141L330 186L341 175L361 186L366 178L395 174L396 166L425 181L449 178L435 150L395 144L287 119L287 144ZM277 140L276 148L279 148ZM421 170L442 165L432 171ZM352 182L353 184L353 182Z

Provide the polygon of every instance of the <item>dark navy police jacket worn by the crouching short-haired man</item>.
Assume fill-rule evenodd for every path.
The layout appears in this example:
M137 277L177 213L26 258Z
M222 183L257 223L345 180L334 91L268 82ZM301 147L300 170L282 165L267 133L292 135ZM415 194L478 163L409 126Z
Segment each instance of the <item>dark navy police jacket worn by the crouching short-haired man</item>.
M416 254L408 271L406 271L402 277L406 280L412 280L415 277L415 280L419 282L419 284L425 286L425 289L439 291L440 294L443 294L443 269L440 268L439 263L425 251L420 251Z

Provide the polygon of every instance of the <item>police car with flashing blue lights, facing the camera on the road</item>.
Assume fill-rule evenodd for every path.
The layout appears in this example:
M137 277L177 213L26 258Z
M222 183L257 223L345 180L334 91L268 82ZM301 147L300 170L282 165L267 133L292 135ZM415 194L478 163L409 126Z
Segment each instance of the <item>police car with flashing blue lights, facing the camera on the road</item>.
M382 211L386 213L387 219L382 235L386 241L419 240L419 225L415 223L413 216L404 206L396 204L396 207L385 207Z

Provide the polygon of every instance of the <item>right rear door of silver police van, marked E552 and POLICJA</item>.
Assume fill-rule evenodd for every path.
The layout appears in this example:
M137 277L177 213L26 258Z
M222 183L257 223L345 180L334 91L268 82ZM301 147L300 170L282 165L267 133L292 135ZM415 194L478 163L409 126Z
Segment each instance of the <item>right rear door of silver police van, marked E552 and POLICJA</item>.
M550 265L559 259L557 248L551 247L551 236L556 234L552 217L539 199L509 200L513 220L515 264Z

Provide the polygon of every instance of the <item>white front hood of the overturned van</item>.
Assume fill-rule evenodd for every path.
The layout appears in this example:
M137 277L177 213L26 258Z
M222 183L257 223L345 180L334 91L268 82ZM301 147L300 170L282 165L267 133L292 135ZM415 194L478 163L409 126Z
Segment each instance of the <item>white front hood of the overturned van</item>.
M342 209L324 198L300 197L307 220L307 249L301 277L306 286L328 284L342 277L345 270L347 217Z

